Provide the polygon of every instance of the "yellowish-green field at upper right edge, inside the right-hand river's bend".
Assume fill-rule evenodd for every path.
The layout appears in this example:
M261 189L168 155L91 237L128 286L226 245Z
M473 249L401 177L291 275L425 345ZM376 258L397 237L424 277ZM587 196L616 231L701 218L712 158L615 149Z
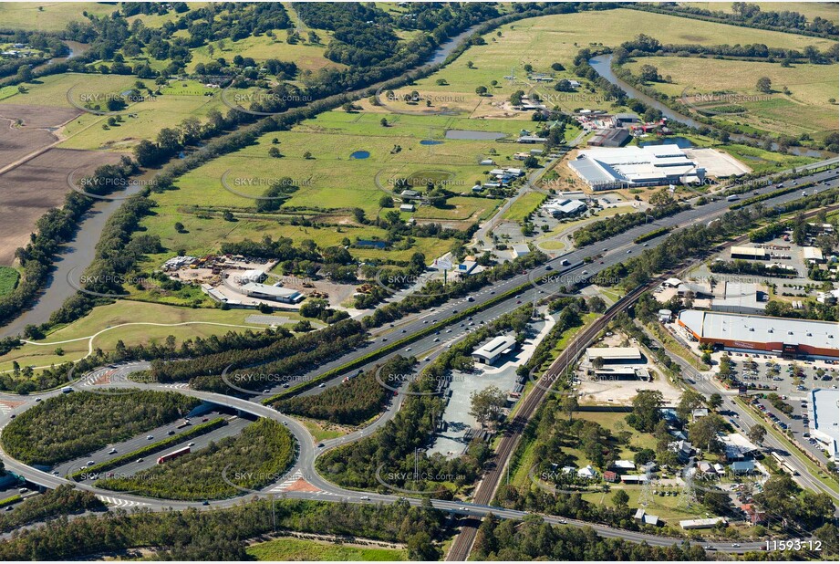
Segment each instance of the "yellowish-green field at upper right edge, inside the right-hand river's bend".
M783 68L778 63L722 60L695 57L639 57L627 63L634 74L642 65L653 65L659 74L670 76L670 83L651 86L679 98L685 89L690 93L726 92L754 97L755 101L738 102L746 109L739 115L720 116L731 123L758 130L799 135L821 134L837 130L837 99L840 82L837 65L794 65ZM763 95L755 88L759 78L771 79L773 93ZM791 94L783 94L783 88Z

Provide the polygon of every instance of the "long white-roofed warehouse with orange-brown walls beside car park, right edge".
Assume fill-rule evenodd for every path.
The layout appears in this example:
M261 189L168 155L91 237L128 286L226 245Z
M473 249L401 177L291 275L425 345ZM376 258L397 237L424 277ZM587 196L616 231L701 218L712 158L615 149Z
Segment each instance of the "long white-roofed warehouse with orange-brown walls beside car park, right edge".
M785 357L835 360L838 327L831 321L770 318L686 309L679 312L679 327L700 343L725 350L772 352Z

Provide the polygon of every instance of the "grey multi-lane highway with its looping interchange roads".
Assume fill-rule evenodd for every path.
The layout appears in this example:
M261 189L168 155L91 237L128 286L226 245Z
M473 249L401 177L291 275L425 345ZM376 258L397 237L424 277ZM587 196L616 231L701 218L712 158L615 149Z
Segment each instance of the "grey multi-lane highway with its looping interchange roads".
M837 190L837 173L835 170L827 172L816 172L813 174L808 174L796 181L796 183L810 182L818 183L818 185L815 188L809 188L809 194L814 192L822 192L824 190ZM756 192L766 193L776 189L777 188L775 186L767 186L757 189ZM779 204L783 202L792 201L800 197L802 197L802 194L797 191L794 193L788 193L784 194L783 196L773 198L773 200L765 201L763 204ZM636 245L634 243L634 239L638 237L638 235L646 234L649 231L662 226L679 228L680 226L692 225L700 222L709 222L715 217L719 217L721 214L726 213L731 204L731 202L721 200L711 202L700 207L691 208L690 210L687 210L680 214L676 214L674 216L658 220L652 225L642 225L630 229L623 234L612 237L608 241L598 243L590 247L585 247L583 249L578 249L565 256L556 257L548 261L547 266L551 268L552 272L556 275L559 275L561 277L569 277L570 281L574 281L575 277L587 277L595 275L597 272L607 268L608 266L620 263L626 260L628 256L637 255L639 252L644 250L643 247L640 247L639 245ZM665 235L656 239L649 240L648 247L659 245L664 239L664 237ZM583 261L586 257L596 255L600 256L595 261L593 261L591 264L584 264ZM568 266L564 266L565 261L568 261ZM546 266L539 266L536 271L539 273L547 273L548 271L545 270L545 267ZM508 280L498 282L492 287L487 287L482 291L473 294L470 297L472 298L472 300L468 300L468 298L450 300L445 305L439 308L435 308L434 310L430 310L427 312L422 312L415 316L410 316L409 318L399 323L396 323L393 328L389 327L381 329L377 337L371 343L369 343L368 346L359 348L358 350L347 351L347 353L345 353L342 357L338 358L337 360L333 360L327 363L327 365L318 367L316 371L311 371L308 374L298 377L297 381L307 381L311 378L314 378L316 374L320 374L324 371L343 366L353 360L358 360L362 356L368 354L369 351L376 350L376 348L382 347L383 345L388 345L389 342L392 342L395 339L411 338L413 336L418 335L421 331L429 329L430 325L439 325L439 327L435 328L437 329L437 332L439 334L435 334L434 332L432 332L432 334L415 339L412 342L410 342L410 344L407 344L405 347L400 348L399 350L392 351L390 353L390 355L401 354L417 356L420 359L420 366L422 366L422 364L425 362L422 359L425 359L427 356L433 357L436 354L439 354L441 350L444 350L445 346L449 342L451 342L454 339L459 339L463 337L465 334L470 332L473 327L477 325L482 325L482 323L488 323L493 319L496 319L497 317L510 311L512 308L515 308L520 303L528 303L530 301L536 301L539 298L544 298L548 292L552 291L546 291L546 289L544 289L543 286L539 284L534 284L532 282L534 279L534 271L526 272L524 274L512 277ZM529 282L532 282L532 284L529 284ZM552 289L556 289L560 286L561 284L558 283L556 286L552 287ZM545 288L547 288L547 286L545 286ZM517 289L519 290L518 293L513 295L513 290ZM451 316L456 311L461 311L465 308L486 305L488 302L500 298L501 296L507 293L511 293L511 295L506 296L493 306L489 306L483 308L480 311L475 312L472 315L472 319L458 320L454 322L448 321L448 319L451 318ZM384 356L383 358L377 360L377 362L381 363L390 355ZM373 362L368 363L368 365L362 368L364 370L368 370L373 367L373 364ZM130 373L132 371L145 370L146 368L148 368L148 364L146 363L133 362L127 365L120 366L119 368L114 370L118 371L122 375L125 375L126 373ZM354 370L358 370L358 368ZM119 374L117 375L119 376ZM341 381L341 378L341 375L337 376L336 379L330 382L331 385L338 385L338 383ZM119 381L120 379L116 378L114 380ZM125 379L121 380L121 382L115 385L138 385L133 384L131 382L126 382ZM172 389L171 386L166 386L162 384L140 384L140 386L160 390ZM281 390L282 387L278 385L272 392L280 392ZM335 486L327 482L327 480L325 480L323 477L317 474L315 462L316 457L319 454L327 451L330 448L335 448L342 444L348 444L350 442L357 441L358 439L364 436L368 436L370 433L374 433L379 428L379 426L386 423L389 420L389 418L392 417L393 414L396 413L396 411L399 409L399 405L401 404L403 399L401 395L393 399L393 402L389 406L389 410L386 413L383 413L383 415L377 420L376 423L373 423L372 425L358 431L357 433L352 433L350 435L334 439L332 441L325 441L323 446L318 446L314 443L311 434L306 431L306 428L302 424L298 423L295 419L286 417L282 413L278 413L274 409L264 406L257 401L254 401L259 400L260 397L251 398L249 400L211 392L199 392L189 389L179 389L177 391L205 400L207 402L213 402L218 405L226 406L234 410L240 410L244 413L251 413L260 417L269 417L274 419L275 421L284 423L289 428L289 430L295 435L296 440L300 446L296 464L291 469L288 475L303 476L306 479L306 481L310 485L314 486L317 490L316 492L289 491L284 492L285 496L303 496L307 498L315 498L326 501L347 500L348 502L355 503L390 503L400 498L400 496L396 495L366 495L364 493L345 490L343 488ZM41 394L34 394L31 396L12 396L10 394L6 394L5 397L0 396L0 399L5 399L7 401L22 402L21 405L15 407L13 410L7 411L5 413L0 413L0 425L5 426L5 424L7 424L10 421L10 416L13 413L21 413L22 411L36 405L37 398L43 399L53 395L57 395L59 393L61 392L54 391ZM534 397L536 396L534 395ZM525 401L527 401L527 398ZM533 409L535 410L538 406L539 399L531 400L531 402L534 403ZM746 413L741 414L741 417L744 417L745 419L749 416L750 415ZM30 466L23 465L22 463L10 458L3 452L0 452L0 457L3 458L7 469L16 472L19 475L25 476L28 480L37 485L52 488L61 484L67 484L67 480L61 477L60 475L52 475L47 472L36 470L35 468L32 468ZM197 501L174 502L165 500L152 500L150 498L131 496L129 494L115 495L113 492L99 490L98 488L89 486L87 484L79 484L77 485L77 487L94 491L99 496L107 496L111 499L119 498L119 500L124 501L126 503L136 504L138 506L143 507L149 507L155 510L162 510L167 508L178 509L184 507L202 507L202 504ZM490 491L490 486L487 486L485 490L481 491ZM263 491L258 493L258 495L267 496L276 493L276 486L273 484L271 486L266 486ZM482 497L486 497L486 501L489 502L489 499L492 498L492 493L493 492L490 491L489 494L483 494ZM240 498L215 501L210 502L209 507L229 507L233 504L239 503L239 501ZM453 511L461 515L474 517L481 517L491 512L493 512L493 514L495 515L498 515L499 517L519 518L525 515L524 512L506 510L501 507L490 507L489 505L487 505L487 503L480 503L482 500L477 501L479 503L433 500L432 505L434 507L439 507L444 510ZM416 499L410 499L410 503L419 503L419 501ZM544 518L546 521L552 523L559 523L563 521L559 517ZM572 520L569 520L568 524L571 526L593 527L598 532L598 534L603 535L605 537L625 538L627 540L639 542L645 541L651 545L671 545L677 541L677 539L674 538L658 537L655 535L648 535L644 533L634 533L622 529L615 529L596 524L576 522ZM763 547L762 543L743 543L740 548L733 548L725 543L711 543L711 545L717 549L729 550L734 552ZM468 551L469 547L467 547L467 553Z

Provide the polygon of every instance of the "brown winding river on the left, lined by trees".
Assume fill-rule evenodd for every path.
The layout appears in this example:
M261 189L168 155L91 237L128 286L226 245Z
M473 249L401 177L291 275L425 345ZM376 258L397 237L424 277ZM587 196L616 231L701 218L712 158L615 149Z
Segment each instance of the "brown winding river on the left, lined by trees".
M478 26L472 26L442 43L435 49L434 54L423 67L442 64L456 47L475 33L477 28ZM69 45L69 47L70 57L84 52L86 48L82 44ZM410 72L415 70L416 68L413 68ZM376 85L373 86L375 87ZM155 174L156 172L154 171L147 172L141 178L150 180ZM46 323L49 321L52 313L60 308L67 298L76 293L76 288L67 283L67 277L72 276L78 280L78 277L90 266L93 262L94 247L99 242L99 237L102 235L102 230L106 222L122 204L122 200L116 200L100 201L93 205L88 214L79 223L76 236L67 245L64 245L60 254L54 258L53 267L47 277L47 284L40 296L36 298L31 308L7 325L0 327L0 338L22 333L26 326L30 324L40 325L41 323Z

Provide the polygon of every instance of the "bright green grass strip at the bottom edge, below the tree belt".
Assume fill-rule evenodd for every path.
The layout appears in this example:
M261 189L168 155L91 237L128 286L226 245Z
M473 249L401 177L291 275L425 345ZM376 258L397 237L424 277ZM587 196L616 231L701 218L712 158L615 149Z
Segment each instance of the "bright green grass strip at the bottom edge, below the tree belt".
M347 546L323 540L303 538L275 538L246 548L247 553L256 560L293 560L293 561L383 561L408 560L408 551L404 548L369 548Z

